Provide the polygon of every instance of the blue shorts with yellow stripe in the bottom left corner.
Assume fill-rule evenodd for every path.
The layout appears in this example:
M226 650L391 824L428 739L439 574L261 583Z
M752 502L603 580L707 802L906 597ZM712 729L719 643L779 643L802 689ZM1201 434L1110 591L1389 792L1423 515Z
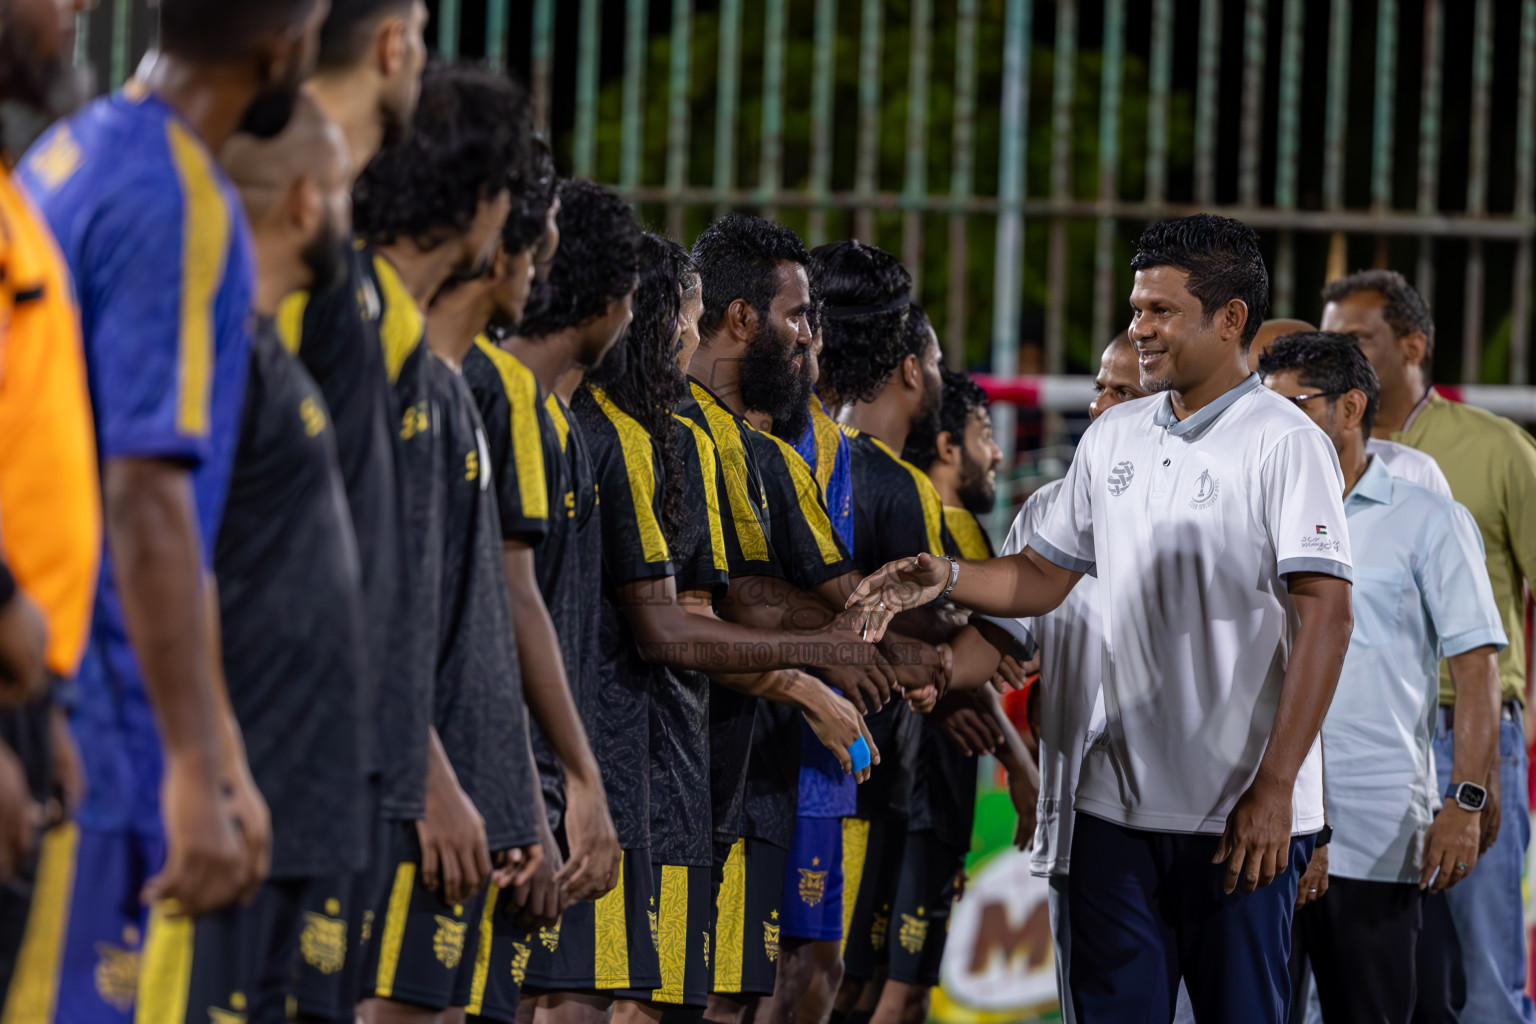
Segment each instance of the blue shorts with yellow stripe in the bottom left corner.
M164 852L160 837L72 823L45 837L11 993L20 1019L132 1024L149 920L138 894Z

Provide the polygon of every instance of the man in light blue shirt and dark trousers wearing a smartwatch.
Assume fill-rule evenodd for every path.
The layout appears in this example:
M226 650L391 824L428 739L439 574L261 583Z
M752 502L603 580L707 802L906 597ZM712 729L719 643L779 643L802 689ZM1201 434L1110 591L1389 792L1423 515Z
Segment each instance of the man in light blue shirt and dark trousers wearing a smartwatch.
M1292 975L1310 960L1324 1021L1407 1024L1424 892L1459 883L1481 852L1507 637L1471 514L1367 453L1379 390L1359 345L1289 335L1260 373L1333 441L1355 557L1355 629L1322 723L1333 841L1319 838L1298 889ZM1456 688L1445 789L1432 749L1441 657Z

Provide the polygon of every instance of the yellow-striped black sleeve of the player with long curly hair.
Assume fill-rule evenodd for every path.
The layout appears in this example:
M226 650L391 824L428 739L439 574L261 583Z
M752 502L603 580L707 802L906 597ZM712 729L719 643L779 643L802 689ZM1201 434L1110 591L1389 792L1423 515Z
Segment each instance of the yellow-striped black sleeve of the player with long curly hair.
M676 568L662 533L660 465L651 436L601 388L584 388L571 408L587 439L602 504L602 563L619 586Z

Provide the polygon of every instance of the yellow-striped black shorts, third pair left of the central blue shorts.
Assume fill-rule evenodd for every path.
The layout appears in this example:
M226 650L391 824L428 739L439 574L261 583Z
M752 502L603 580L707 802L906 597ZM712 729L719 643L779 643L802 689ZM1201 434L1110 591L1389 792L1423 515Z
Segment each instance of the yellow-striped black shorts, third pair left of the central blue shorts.
M613 892L565 907L558 926L535 935L524 986L547 992L659 989L662 969L650 918L654 897L650 851L624 851Z

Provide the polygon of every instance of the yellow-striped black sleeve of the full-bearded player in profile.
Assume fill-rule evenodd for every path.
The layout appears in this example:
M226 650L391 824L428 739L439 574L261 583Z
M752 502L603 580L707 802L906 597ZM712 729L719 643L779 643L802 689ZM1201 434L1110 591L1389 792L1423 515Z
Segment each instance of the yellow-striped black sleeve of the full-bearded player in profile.
M851 573L852 557L843 548L822 499L816 474L800 453L757 430L748 433L762 471L763 496L771 513L771 542L785 576L811 590Z

